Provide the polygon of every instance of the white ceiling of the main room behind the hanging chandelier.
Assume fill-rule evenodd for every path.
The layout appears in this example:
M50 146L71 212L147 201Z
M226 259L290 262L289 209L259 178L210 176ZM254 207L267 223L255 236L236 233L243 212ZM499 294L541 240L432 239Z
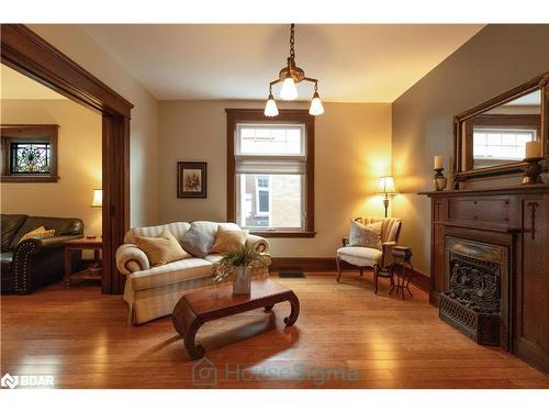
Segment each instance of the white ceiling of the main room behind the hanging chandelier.
M288 24L82 27L159 100L266 99L289 54ZM392 102L482 27L298 24L295 60L325 101Z

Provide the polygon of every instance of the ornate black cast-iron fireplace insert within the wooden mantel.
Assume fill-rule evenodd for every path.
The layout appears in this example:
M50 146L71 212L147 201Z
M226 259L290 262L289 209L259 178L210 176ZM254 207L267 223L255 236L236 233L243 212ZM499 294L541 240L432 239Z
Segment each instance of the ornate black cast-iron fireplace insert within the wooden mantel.
M446 285L439 315L477 343L500 345L502 308L507 307L507 248L466 238L446 237ZM507 320L504 320L507 324Z

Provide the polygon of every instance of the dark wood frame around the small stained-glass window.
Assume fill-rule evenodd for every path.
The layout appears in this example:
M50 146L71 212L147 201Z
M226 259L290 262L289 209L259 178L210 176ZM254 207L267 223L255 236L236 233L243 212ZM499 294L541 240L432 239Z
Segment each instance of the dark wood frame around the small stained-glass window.
M0 136L2 140L2 169L0 181L16 183L51 183L59 180L57 174L58 152L57 135L58 124L2 124ZM44 175L19 175L10 171L11 143L16 141L49 143L49 174Z

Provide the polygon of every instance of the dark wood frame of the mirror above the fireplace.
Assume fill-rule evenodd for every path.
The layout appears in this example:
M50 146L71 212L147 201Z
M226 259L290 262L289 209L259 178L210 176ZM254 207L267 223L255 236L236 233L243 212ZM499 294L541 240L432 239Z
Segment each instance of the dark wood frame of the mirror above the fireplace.
M459 189L459 183L477 178L518 175L525 167L525 162L511 162L505 165L490 166L481 169L463 170L463 122L467 120L504 104L511 100L528 94L533 91L541 91L541 133L540 138L544 142L544 160L541 166L544 171L548 170L549 165L549 71L535 77L534 79L507 90L483 103L466 110L453 116L453 188Z

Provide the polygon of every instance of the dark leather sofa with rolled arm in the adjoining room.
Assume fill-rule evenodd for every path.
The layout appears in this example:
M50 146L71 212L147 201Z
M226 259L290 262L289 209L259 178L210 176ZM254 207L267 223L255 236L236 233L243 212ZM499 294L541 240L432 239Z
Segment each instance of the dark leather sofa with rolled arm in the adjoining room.
M2 214L1 216L1 292L30 293L42 285L63 279L65 248L63 242L82 237L80 219ZM21 237L40 226L55 230L52 237ZM81 254L72 256L72 268L81 265Z

